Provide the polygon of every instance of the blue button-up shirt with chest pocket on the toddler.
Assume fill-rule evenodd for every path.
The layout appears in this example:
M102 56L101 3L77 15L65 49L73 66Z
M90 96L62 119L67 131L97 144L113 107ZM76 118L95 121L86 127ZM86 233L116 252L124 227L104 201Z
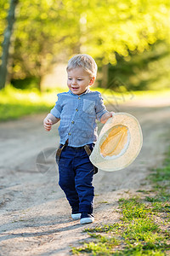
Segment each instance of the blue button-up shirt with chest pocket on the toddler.
M96 119L108 112L98 91L86 90L80 96L71 90L59 93L58 101L50 113L60 119L59 137L61 144L69 139L69 146L82 147L97 141Z

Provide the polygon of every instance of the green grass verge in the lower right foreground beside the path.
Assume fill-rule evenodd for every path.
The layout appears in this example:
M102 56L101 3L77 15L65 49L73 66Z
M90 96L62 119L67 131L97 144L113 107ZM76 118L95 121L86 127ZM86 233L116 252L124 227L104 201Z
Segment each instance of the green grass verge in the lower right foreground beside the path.
M145 196L146 191L139 190L138 197L120 199L120 221L85 229L92 241L78 248L73 247L72 253L96 256L169 255L169 173L170 148L162 168L150 174L152 196Z

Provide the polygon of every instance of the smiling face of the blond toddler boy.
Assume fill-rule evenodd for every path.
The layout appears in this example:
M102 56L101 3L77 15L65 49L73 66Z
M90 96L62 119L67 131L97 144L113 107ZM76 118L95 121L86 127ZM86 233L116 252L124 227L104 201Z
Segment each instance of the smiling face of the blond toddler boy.
M73 68L67 73L67 85L74 94L81 95L88 89L88 85L94 84L94 78L91 78L82 67Z

